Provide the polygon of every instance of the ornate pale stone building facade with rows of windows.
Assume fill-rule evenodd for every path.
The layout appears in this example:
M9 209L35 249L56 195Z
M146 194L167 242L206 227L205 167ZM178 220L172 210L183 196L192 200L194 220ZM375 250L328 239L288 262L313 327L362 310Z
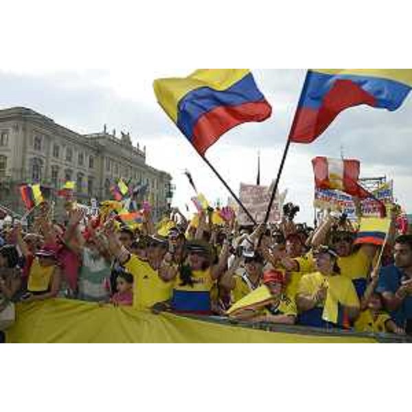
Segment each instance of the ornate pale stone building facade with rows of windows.
M154 218L172 201L172 176L146 164L146 148L133 146L130 135L115 131L81 135L30 108L0 110L0 204L21 213L19 186L40 183L43 194L58 202L66 181L76 182L76 197L88 204L112 198L117 179L148 183L146 200Z

